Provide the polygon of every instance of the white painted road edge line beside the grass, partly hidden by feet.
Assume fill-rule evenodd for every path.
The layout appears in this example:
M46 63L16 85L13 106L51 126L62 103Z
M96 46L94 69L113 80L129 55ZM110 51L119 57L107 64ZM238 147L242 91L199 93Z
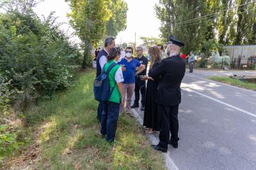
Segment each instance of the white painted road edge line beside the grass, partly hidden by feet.
M140 115L138 114L138 112L135 109L132 109L132 112L133 112L135 118L137 118L137 120L139 121L140 125L143 125L143 120L140 117ZM159 140L153 134L149 135L149 139L152 144L159 143ZM167 153L164 153L165 166L167 167L167 169L170 169L170 170L179 170L179 168L173 162L172 158L170 158L169 154L170 154L170 151L168 151Z

